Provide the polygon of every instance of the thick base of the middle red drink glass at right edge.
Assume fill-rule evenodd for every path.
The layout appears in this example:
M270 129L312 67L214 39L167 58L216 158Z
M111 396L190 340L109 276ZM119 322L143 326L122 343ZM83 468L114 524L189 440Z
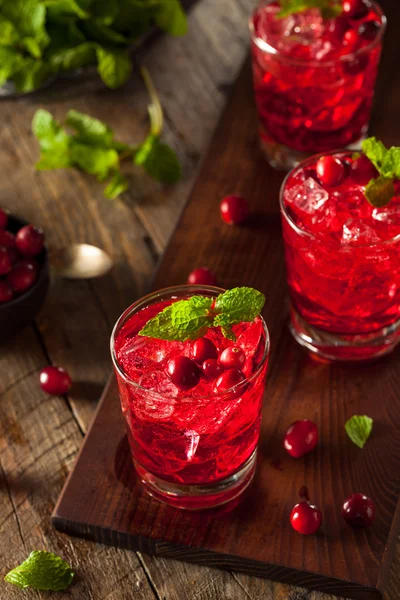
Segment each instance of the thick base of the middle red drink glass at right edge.
M400 342L400 320L373 333L344 335L310 325L292 306L290 321L290 331L299 344L328 360L371 360L388 354Z

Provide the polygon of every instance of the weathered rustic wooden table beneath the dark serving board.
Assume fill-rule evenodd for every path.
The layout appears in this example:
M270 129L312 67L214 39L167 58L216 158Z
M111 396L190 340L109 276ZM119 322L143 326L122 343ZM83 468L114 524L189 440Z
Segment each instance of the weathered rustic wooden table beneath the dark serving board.
M76 600L328 600L256 578L124 552L58 534L50 514L109 375L113 323L149 285L248 48L254 0L202 0L183 39L160 38L143 54L160 92L166 139L184 179L163 190L135 175L124 201L110 202L92 178L70 171L35 173L30 123L39 106L62 119L75 108L107 120L118 138L142 139L147 95L138 76L111 92L97 80L65 81L39 96L0 105L0 204L42 226L51 248L88 242L116 266L104 279L54 278L37 324L0 347L0 573L33 549L62 555L76 569ZM398 140L397 140L398 141ZM68 398L48 397L38 372L48 363L70 372ZM400 549L400 548L399 548ZM400 552L387 598L400 598ZM47 598L0 583L2 600ZM52 598L65 597L54 593Z

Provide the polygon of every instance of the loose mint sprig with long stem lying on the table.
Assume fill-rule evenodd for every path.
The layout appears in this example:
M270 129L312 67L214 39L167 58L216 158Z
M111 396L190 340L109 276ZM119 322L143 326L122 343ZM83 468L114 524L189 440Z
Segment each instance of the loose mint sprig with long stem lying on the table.
M77 167L106 181L104 193L107 198L117 198L128 187L127 178L121 173L123 160L131 160L147 173L165 184L176 183L181 177L181 166L174 150L161 142L163 112L159 98L148 72L142 74L150 94L150 133L137 146L123 144L114 139L112 129L89 115L76 110L68 112L65 125L75 131L70 135L47 110L36 111L32 130L40 145L38 170Z

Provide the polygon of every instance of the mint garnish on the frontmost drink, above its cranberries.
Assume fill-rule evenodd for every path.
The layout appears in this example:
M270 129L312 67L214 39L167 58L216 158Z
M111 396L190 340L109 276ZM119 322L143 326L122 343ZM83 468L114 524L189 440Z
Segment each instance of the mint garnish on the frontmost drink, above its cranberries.
M150 319L139 335L161 340L195 340L210 327L221 327L223 335L235 340L232 326L252 322L261 313L265 296L253 288L240 287L217 296L192 296L167 306Z

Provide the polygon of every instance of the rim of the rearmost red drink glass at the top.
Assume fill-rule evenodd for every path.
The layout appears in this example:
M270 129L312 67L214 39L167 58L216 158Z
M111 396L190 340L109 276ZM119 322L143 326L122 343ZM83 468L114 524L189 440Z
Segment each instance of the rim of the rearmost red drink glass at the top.
M274 0L267 0L268 4L273 1ZM383 12L382 7L377 2L375 2L375 0L372 0L371 4L376 9L376 12L378 13L378 15L380 16L380 19L381 19L381 27L380 27L375 39L373 39L372 42L370 44L368 44L367 46L364 46L363 48L359 48L355 52L349 52L348 54L343 54L342 56L339 56L338 58L335 58L335 59L330 59L330 60L324 61L324 60L302 60L300 58L291 58L290 56L286 56L285 54L283 54L282 52L280 52L279 50L277 50L276 48L274 48L273 46L268 44L268 42L266 42L265 40L263 40L262 38L257 36L255 33L255 30L254 30L254 16L255 16L256 12L259 10L259 8L256 8L256 10L252 13L252 15L249 18L249 29L250 29L251 39L260 50L262 50L266 54L271 54L273 56L276 56L282 62L287 62L290 65L297 66L297 67L312 67L312 68L333 67L338 62L340 63L340 62L346 62L346 61L353 60L354 57L360 56L360 55L364 54L365 52L372 50L382 40L383 34L385 33L385 30L386 30L386 25L387 25L386 15Z

